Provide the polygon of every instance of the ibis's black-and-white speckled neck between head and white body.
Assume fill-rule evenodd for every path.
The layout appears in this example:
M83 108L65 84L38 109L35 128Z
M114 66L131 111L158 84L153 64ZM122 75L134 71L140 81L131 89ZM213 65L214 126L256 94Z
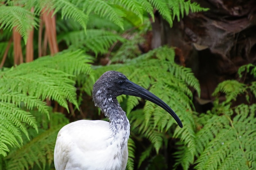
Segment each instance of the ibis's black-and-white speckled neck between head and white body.
M130 136L130 123L117 99L112 97L106 98L101 111L110 121L110 129L112 130L114 140L119 140L124 145L127 145Z

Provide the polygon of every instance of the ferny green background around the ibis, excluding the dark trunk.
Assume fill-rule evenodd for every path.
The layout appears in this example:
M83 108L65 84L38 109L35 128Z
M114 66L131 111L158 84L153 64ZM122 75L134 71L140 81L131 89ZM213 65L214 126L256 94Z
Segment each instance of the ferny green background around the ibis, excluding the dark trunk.
M91 90L108 70L159 96L184 124L155 104L118 97L131 124L127 170L256 169L256 66L218 84L202 112L200 82L178 49L152 48L157 16L171 27L207 10L183 0L1 1L0 169L54 170L61 127L106 119Z

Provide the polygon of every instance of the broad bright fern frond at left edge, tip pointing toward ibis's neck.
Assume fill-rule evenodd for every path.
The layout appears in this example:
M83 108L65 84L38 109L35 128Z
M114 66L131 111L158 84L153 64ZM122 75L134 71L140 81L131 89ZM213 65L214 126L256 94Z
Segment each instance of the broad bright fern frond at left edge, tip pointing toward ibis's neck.
M24 67L26 70L22 69L22 66L6 72L2 79L0 79L1 85L9 87L11 91L23 94L28 93L36 98L42 97L42 99L56 100L67 109L66 99L77 106L76 89L73 86L74 81L67 78L71 75L62 71L56 71L55 69L48 68L47 70L42 70L40 67L29 68L30 64L22 65L26 65Z

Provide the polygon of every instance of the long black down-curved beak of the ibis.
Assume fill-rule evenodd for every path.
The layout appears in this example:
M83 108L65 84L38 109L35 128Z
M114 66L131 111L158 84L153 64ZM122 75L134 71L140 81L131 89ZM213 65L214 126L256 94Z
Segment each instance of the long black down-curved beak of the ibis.
M150 102L157 104L158 106L166 110L168 113L170 113L170 115L175 119L175 121L181 128L183 127L182 122L180 121L180 118L164 101L159 99L159 97L157 97L153 93L150 93L145 88L131 82L130 80L126 80L126 83L127 85L123 88L124 95L141 97L142 99L146 99L146 100L149 100Z

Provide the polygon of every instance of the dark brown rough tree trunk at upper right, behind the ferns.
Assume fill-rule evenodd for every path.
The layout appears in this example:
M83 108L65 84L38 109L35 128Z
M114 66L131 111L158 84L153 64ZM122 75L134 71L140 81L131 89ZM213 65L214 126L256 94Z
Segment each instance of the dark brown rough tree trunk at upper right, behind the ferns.
M196 0L210 10L190 13L173 28L156 15L153 48L177 47L200 81L200 104L212 100L212 92L225 79L235 79L239 66L256 64L256 1ZM157 40L157 41L155 41Z

